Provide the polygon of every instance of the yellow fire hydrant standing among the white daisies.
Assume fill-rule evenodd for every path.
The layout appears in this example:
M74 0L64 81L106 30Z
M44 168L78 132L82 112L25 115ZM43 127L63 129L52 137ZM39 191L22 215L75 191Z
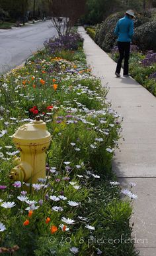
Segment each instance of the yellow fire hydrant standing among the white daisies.
M34 122L20 126L13 134L20 158L15 159L17 166L11 170L9 177L31 184L37 183L38 178L46 178L46 150L51 139L46 123L40 120L40 116Z

